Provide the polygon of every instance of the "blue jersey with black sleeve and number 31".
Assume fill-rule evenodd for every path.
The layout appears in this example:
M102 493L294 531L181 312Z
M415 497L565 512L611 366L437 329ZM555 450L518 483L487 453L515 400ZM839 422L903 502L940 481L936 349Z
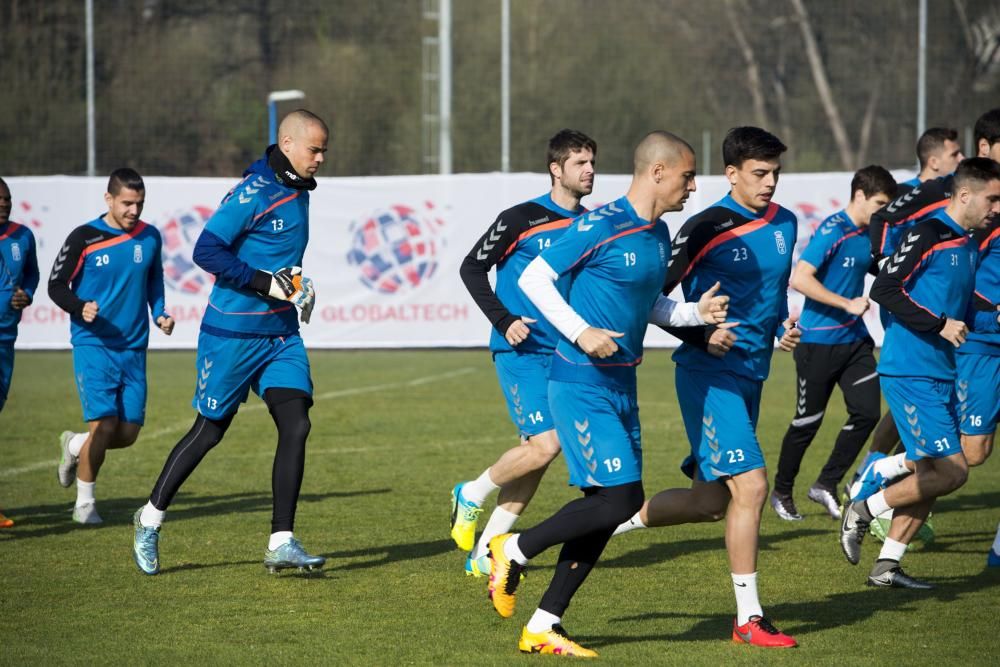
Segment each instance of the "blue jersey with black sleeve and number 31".
M871 290L893 314L879 374L954 381L955 348L939 332L945 318L966 319L977 260L976 244L945 211L906 232Z

